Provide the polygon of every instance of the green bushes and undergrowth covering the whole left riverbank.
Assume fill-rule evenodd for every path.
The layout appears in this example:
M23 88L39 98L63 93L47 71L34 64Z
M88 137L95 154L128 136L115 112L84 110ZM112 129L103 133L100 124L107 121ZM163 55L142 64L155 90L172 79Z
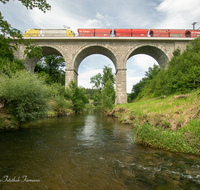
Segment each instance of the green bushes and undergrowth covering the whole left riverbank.
M65 89L48 73L25 70L22 60L0 58L0 84L0 131L41 118L81 112L88 102L85 89L75 82Z

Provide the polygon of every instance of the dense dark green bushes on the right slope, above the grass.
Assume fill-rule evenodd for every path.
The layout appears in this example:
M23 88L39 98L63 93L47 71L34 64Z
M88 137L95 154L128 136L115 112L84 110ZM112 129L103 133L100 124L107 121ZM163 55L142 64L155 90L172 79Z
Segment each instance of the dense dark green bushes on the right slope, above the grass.
M178 48L173 55L167 69L158 70L153 73L153 77L149 75L146 83L142 80L133 86L133 91L139 91L134 98L185 94L198 87L194 85L194 81L200 80L200 38L191 41L182 54Z

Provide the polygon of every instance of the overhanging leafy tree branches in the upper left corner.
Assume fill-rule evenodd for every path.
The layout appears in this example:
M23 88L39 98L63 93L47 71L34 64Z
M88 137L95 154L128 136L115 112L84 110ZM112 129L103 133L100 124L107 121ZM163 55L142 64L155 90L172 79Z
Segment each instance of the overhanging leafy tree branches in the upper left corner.
M46 12L50 10L51 6L46 0L19 0L22 5L27 9L39 8L41 11ZM9 0L0 0L1 3L6 4ZM33 44L32 40L24 40L22 34L16 28L13 28L6 20L4 20L2 13L0 12L0 56L8 57L11 61L13 60L13 49L17 49L19 43L23 43L26 46L24 51L28 58L41 57L42 48ZM17 39L17 41L15 40ZM13 43L11 43L13 42ZM14 44L14 45L13 45Z

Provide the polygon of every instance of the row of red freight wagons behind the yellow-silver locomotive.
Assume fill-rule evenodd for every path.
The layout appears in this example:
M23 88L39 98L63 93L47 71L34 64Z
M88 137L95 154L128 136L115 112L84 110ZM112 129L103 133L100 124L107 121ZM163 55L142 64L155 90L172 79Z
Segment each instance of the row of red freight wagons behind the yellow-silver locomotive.
M174 37L195 38L200 36L200 30L178 30L178 29L78 29L80 37Z

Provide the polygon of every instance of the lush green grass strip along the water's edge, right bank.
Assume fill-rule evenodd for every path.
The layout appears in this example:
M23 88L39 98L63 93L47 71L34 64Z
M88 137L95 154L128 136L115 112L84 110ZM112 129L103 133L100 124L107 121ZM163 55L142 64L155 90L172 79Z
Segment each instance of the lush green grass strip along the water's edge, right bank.
M134 141L153 148L199 154L199 126L200 122L194 120L187 126L172 132L168 129L156 128L148 123L135 124L134 131L136 135Z

